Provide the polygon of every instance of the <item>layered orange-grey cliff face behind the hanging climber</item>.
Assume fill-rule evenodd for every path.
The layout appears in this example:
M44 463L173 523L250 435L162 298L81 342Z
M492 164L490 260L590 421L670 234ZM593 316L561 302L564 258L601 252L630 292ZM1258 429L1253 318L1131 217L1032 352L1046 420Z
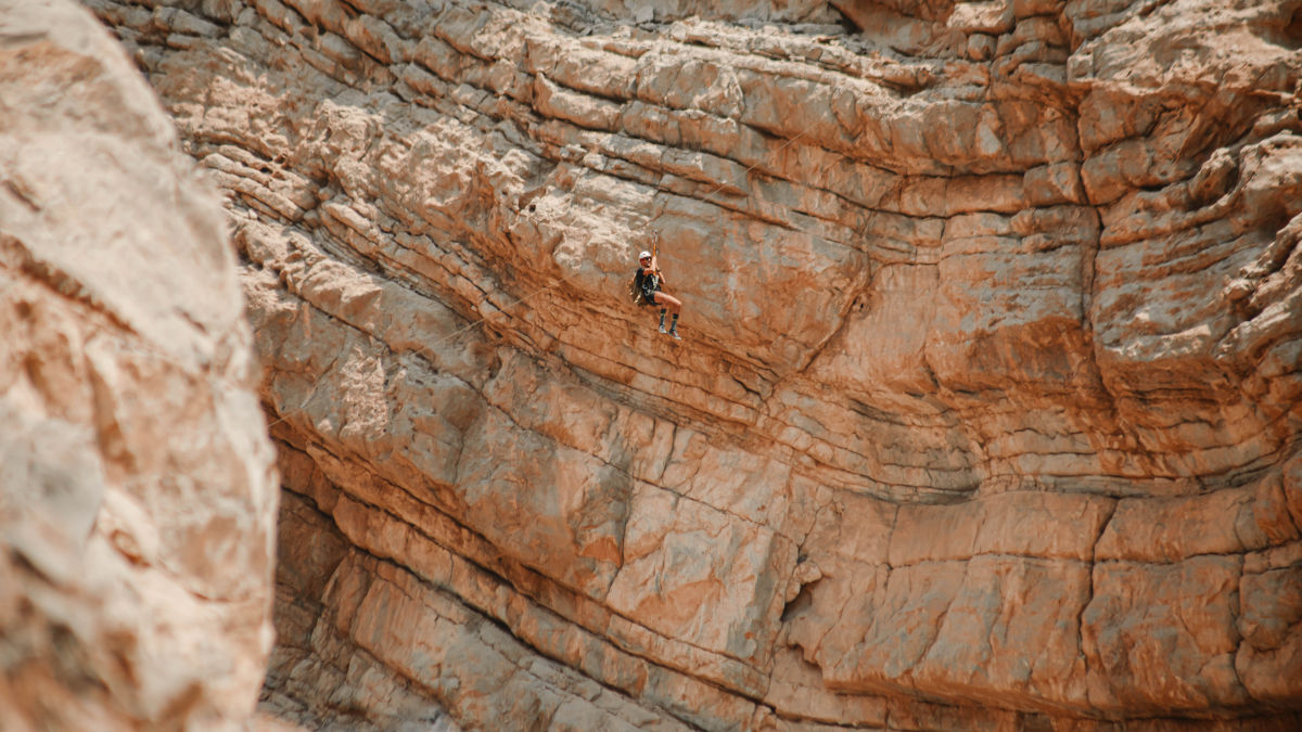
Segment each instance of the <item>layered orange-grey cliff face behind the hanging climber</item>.
M1298 723L1299 3L87 4L228 194L266 709Z

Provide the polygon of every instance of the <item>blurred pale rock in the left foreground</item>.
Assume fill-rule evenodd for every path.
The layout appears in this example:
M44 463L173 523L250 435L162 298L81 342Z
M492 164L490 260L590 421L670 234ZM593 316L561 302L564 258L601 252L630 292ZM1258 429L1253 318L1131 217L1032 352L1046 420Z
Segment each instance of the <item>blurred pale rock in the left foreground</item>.
M74 3L0 0L0 729L242 729L275 451L214 186Z

